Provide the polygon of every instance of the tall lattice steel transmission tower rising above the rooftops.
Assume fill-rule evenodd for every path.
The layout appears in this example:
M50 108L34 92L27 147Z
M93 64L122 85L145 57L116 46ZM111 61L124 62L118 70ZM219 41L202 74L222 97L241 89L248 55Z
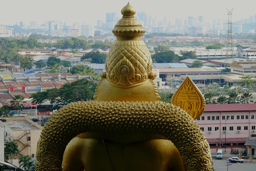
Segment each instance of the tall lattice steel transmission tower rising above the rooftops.
M225 56L225 67L228 67L229 63L234 62L234 47L232 38L232 12L233 8L229 11L227 9L228 21L227 21L227 45Z

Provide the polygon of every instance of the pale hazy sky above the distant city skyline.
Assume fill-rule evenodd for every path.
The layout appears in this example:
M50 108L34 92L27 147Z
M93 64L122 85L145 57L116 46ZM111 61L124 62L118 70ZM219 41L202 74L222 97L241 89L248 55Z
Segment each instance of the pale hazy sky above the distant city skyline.
M249 18L256 14L254 0L4 0L0 10L0 24L36 21L42 24L49 20L66 21L67 24L97 20L106 22L106 13L116 12L121 17L121 9L128 3L136 12L146 12L159 20L166 17L185 19L188 16L204 16L204 21L228 19L227 11L233 8L232 22ZM136 15L136 14L135 14Z

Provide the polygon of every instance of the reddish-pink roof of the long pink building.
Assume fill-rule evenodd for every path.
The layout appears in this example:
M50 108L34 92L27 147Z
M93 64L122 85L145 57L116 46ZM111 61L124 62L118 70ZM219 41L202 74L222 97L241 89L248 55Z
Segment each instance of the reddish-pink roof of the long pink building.
M206 104L204 112L256 111L256 103L244 104Z

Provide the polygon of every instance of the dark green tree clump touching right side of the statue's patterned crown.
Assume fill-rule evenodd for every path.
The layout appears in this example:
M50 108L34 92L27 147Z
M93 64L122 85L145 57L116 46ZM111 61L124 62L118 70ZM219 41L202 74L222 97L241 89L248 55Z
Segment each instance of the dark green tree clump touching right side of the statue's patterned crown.
M178 62L180 58L173 51L166 51L152 55L152 59L157 63L171 63Z

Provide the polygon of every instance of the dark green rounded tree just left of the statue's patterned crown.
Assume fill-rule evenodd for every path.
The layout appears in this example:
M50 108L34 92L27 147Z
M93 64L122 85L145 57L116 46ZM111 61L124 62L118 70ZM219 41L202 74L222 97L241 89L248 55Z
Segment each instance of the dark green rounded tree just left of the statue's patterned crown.
M100 53L99 51L86 53L81 57L81 61L89 60L91 61L91 63L96 63L96 64L105 64L106 59L107 59L107 55L104 53Z

